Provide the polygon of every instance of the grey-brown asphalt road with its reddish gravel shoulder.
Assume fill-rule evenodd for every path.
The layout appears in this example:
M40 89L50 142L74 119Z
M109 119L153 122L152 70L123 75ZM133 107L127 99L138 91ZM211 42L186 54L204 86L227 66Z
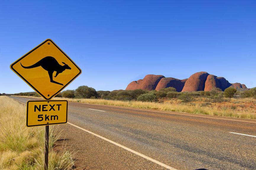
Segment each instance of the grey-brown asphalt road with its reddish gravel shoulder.
M69 102L60 128L78 169L256 169L255 120Z

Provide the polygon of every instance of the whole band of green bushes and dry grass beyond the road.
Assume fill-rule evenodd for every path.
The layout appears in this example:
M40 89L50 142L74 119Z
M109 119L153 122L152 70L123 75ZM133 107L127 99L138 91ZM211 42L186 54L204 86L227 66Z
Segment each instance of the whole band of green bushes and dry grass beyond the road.
M159 91L96 91L92 87L79 86L75 90L62 91L56 97L71 102L256 119L256 87L248 91L216 88L212 91L176 92L173 87Z

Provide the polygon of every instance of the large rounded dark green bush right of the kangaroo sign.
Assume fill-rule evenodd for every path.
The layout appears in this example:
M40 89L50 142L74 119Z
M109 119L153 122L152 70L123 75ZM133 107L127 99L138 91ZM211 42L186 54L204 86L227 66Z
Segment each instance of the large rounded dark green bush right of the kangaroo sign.
M97 92L94 88L88 86L79 86L75 89L75 97L89 99L92 96L97 96Z

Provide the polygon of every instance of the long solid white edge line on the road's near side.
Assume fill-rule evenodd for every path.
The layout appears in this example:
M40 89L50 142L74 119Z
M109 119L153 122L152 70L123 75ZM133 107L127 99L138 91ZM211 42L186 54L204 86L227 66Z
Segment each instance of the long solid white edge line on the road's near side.
M123 146L123 145L120 145L119 143L116 143L116 142L114 142L114 141L112 141L112 140L109 140L109 139L104 138L104 137L102 137L102 136L100 136L100 135L97 135L96 133L93 133L93 132L91 132L91 131L89 131L89 130L80 128L79 126L74 125L74 124L72 124L72 123L70 123L70 122L67 122L67 123L70 124L70 125L72 125L72 126L75 126L76 128L79 128L79 129L81 129L81 130L83 130L83 131L86 131L87 133L90 133L90 134L92 134L92 135L94 135L94 136L97 136L97 137L99 137L99 138L101 138L101 139L103 139L103 140L106 140L106 141L108 141L108 142L110 142L110 143L112 143L112 144L114 144L114 145L116 145L116 146L119 146L120 148L123 148L123 149L125 149L125 150L127 150L127 151L129 151L129 152L131 152L131 153L134 153L134 154L136 154L136 155L138 155L138 156L141 156L142 158L145 158L145 159L147 159L147 160L149 160L149 161L152 161L152 162L154 162L154 163L156 163L156 164L158 164L158 165L160 165L160 166L163 166L163 167L165 167L165 168L167 168L167 169L170 169L170 170L177 170L177 169L175 169L175 168L173 168L173 167L170 167L170 166L168 166L168 165L166 165L166 164L164 164L164 163L162 163L162 162L159 162L159 161L157 161L157 160L155 160L155 159L153 159L153 158L149 158L148 156L143 155L142 153L136 152L136 151L134 151L134 150L132 150L132 149L130 149L130 148L127 148L127 147L125 147L125 146Z

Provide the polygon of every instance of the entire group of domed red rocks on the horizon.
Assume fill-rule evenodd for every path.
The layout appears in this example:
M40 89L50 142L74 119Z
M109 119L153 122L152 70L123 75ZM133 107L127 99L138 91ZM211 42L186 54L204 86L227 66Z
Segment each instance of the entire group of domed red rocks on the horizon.
M144 79L132 81L126 87L126 90L159 90L161 88L174 87L180 91L211 91L214 88L220 88L224 91L228 87L233 87L238 91L248 90L244 84L229 83L224 77L217 77L207 72L201 71L192 74L189 79L175 79L162 75L149 74Z

